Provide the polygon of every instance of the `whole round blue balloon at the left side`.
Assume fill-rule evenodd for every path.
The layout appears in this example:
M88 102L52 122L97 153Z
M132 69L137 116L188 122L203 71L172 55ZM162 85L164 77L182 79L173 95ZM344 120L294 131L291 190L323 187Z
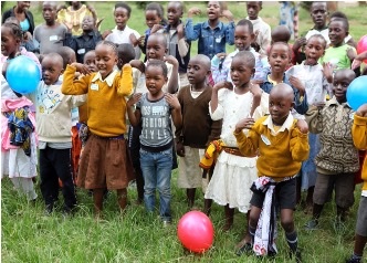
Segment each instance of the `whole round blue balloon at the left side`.
M10 60L6 75L11 90L20 94L34 92L41 81L40 67L25 55Z

